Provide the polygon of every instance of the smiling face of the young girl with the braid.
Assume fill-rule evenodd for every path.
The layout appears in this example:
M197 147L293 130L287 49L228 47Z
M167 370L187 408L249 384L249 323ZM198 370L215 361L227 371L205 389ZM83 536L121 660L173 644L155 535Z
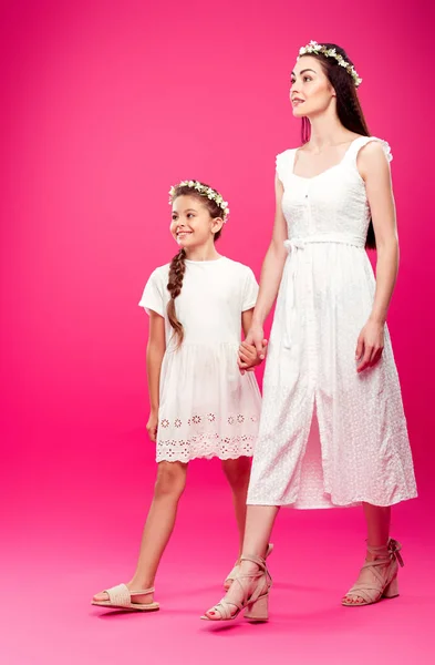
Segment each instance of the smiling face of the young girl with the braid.
M196 196L177 196L173 203L170 233L179 247L194 248L215 239L224 221L210 216L207 206Z

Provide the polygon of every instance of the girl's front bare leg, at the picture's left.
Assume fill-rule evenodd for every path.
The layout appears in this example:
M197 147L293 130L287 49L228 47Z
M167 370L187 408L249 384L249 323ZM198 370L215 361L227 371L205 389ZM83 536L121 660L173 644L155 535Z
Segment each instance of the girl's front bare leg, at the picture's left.
M153 502L145 522L136 572L127 584L132 591L154 585L158 564L174 530L178 501L186 485L186 474L187 464L183 462L158 463ZM107 600L107 594L99 593L94 600ZM152 601L152 594L134 596L134 602L137 603Z

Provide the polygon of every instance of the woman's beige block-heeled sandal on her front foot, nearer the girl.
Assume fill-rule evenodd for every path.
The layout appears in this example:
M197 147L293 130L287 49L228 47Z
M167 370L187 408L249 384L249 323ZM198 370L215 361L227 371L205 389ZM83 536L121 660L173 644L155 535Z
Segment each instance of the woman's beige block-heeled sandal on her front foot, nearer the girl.
M241 556L241 561L251 561L258 565L258 571L253 573L238 573L234 583L238 583L244 593L240 603L226 601L222 598L217 605L211 607L201 616L205 621L231 621L245 610L245 618L250 621L267 621L269 618L269 592L272 585L272 579L267 569L265 559L260 556ZM251 582L257 580L257 585L251 592L244 586L244 580ZM236 611L235 611L236 607Z

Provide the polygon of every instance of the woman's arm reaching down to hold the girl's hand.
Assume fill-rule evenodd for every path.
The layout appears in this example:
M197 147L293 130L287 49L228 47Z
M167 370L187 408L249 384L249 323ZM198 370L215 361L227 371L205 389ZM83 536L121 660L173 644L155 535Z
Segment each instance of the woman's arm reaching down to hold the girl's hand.
M260 358L265 357L265 335L262 326L277 298L279 285L282 278L282 270L287 258L284 241L287 241L288 234L286 218L281 207L283 186L278 175L275 178L275 194L276 214L272 239L262 264L260 291L253 310L252 324L246 339L248 344L253 344L256 346L257 354Z

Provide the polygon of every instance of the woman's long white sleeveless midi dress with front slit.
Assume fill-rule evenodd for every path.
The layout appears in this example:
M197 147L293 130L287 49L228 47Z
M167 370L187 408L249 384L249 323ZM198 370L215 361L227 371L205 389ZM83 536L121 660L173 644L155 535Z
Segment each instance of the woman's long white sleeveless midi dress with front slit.
M277 157L289 256L270 335L250 504L391 505L416 495L387 329L381 361L362 374L355 367L375 290L356 156L373 140L380 141L356 139L340 164L312 178L293 173L294 150Z

